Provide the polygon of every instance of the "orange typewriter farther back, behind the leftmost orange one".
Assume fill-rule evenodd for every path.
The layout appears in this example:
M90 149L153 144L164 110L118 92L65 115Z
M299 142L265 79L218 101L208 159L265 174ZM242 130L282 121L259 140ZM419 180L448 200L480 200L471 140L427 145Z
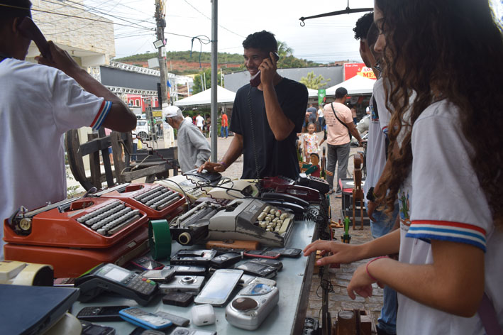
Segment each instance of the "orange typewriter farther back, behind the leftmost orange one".
M170 221L183 212L185 197L178 192L157 184L121 184L91 194L91 197L119 199L141 209L148 219Z

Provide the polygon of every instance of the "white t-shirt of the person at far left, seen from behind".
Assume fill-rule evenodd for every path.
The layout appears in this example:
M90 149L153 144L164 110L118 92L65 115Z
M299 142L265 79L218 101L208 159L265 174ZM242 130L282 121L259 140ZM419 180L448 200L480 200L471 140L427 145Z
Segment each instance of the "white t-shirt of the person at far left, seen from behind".
M63 134L99 128L111 102L85 92L60 70L11 58L0 62L0 101L3 224L21 205L31 210L65 199Z

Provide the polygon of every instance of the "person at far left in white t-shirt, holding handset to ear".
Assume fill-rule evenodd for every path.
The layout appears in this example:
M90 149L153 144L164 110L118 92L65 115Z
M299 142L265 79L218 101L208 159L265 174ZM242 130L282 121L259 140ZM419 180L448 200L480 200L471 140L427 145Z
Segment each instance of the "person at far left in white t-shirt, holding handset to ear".
M30 8L28 0L0 0L2 224L21 206L31 210L66 198L66 131L83 126L131 131L136 126L126 104L52 41L50 59L38 57L40 65L24 61L30 40L18 24L31 17ZM5 227L11 229L9 223ZM0 239L0 259L3 245Z

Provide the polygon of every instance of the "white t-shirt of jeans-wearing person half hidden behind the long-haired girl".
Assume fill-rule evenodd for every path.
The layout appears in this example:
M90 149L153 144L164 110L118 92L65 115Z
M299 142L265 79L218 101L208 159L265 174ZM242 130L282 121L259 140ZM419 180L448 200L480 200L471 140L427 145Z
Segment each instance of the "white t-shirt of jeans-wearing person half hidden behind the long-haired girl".
M391 114L385 105L386 97L382 78L377 79L377 82L375 82L372 97L377 103L377 111L376 106L374 106L374 99L371 98L367 142L367 178L363 185L365 194L367 194L370 187L375 187L386 164L386 135L384 131L387 131ZM365 202L368 202L366 197Z

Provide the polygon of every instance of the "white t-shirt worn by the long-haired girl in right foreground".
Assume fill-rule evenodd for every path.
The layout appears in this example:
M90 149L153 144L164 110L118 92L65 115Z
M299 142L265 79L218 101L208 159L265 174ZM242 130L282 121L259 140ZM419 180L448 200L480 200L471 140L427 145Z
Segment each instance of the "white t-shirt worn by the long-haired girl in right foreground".
M414 123L412 170L398 199L399 260L433 263L431 239L482 249L485 292L503 328L503 232L494 229L485 194L468 158L472 148L460 129L458 108L446 100L431 104ZM397 334L478 335L485 331L478 314L456 317L399 294Z

